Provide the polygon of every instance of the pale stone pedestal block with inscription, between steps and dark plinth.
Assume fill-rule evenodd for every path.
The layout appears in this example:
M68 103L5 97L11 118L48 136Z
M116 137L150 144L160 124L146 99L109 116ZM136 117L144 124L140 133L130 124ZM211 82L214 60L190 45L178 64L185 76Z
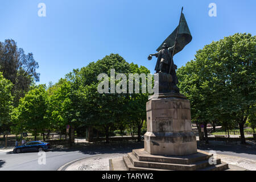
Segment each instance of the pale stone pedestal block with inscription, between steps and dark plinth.
M168 94L164 94L168 96ZM189 155L197 152L190 103L184 96L152 97L146 105L144 150L151 155Z

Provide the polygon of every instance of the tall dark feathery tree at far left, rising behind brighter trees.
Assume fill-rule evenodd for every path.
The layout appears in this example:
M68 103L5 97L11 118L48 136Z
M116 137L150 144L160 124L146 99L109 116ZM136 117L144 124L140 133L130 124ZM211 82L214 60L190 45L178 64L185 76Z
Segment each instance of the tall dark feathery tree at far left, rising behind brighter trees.
M38 68L33 54L26 55L14 40L0 42L0 72L13 83L14 106L18 106L20 97L24 97L32 82L39 81L40 74L36 72Z

